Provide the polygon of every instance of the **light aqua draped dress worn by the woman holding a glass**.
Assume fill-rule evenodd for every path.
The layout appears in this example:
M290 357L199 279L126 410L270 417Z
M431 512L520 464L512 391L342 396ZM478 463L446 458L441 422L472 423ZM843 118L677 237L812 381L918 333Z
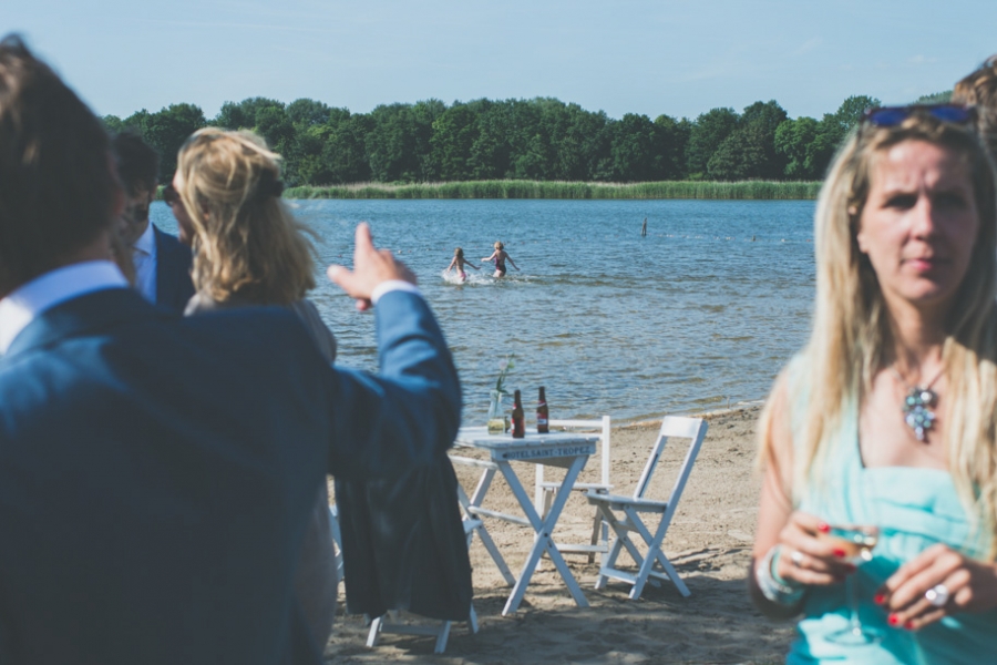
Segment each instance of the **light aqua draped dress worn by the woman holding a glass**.
M851 405L842 413L836 447L818 467L826 471L818 471L816 482L799 492L798 508L831 524L880 526L873 560L859 567L855 580L859 616L864 625L878 628L884 638L867 646L844 646L824 640L847 627L847 596L844 584L816 586L806 596L805 616L796 627L798 638L787 663L997 663L997 611L947 616L911 632L890 626L887 613L873 603L876 589L901 564L929 545L942 542L977 559L983 559L986 549L985 539L974 535L947 471L864 468L857 422L857 408Z

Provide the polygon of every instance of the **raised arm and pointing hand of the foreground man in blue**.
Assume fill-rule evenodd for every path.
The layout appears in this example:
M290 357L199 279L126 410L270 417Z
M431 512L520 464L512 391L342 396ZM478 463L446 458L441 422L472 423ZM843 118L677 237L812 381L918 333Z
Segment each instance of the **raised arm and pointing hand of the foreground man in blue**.
M380 371L331 369L329 471L369 478L431 463L460 426L456 370L415 278L390 252L357 228L353 270L329 277L366 309L376 305Z

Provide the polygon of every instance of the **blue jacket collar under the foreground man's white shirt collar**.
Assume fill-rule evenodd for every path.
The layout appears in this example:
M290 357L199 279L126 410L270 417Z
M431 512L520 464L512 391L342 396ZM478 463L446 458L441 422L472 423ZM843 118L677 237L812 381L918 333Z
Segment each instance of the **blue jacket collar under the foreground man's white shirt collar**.
M44 348L69 339L111 330L129 321L148 318L169 319L175 315L160 309L130 288L93 291L47 309L11 342L3 359Z

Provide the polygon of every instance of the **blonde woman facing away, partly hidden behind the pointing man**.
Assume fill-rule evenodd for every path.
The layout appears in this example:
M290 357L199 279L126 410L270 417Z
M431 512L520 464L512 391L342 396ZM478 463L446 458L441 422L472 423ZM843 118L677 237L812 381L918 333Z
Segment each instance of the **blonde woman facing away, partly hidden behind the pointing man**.
M278 162L279 156L248 132L204 129L181 147L164 198L179 224L181 241L194 249L196 293L184 314L287 307L332 362L336 339L305 297L315 288L311 245L280 198ZM336 586L329 495L323 487L295 577L295 591L320 648L332 630Z

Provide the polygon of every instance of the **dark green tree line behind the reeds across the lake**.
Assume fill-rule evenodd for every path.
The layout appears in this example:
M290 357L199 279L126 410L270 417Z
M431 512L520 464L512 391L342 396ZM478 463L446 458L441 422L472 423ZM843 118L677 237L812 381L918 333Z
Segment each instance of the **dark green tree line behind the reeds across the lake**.
M936 93L923 101L947 99ZM918 101L922 101L918 100ZM432 183L482 180L654 182L813 181L823 177L837 145L862 112L880 101L850 96L820 120L789 117L774 100L741 113L712 109L695 120L627 113L619 120L551 98L439 100L382 104L370 113L300 99L226 102L206 119L194 104L173 104L120 119L162 155L160 176L173 176L176 153L195 130L249 129L284 156L289 185L358 182Z

